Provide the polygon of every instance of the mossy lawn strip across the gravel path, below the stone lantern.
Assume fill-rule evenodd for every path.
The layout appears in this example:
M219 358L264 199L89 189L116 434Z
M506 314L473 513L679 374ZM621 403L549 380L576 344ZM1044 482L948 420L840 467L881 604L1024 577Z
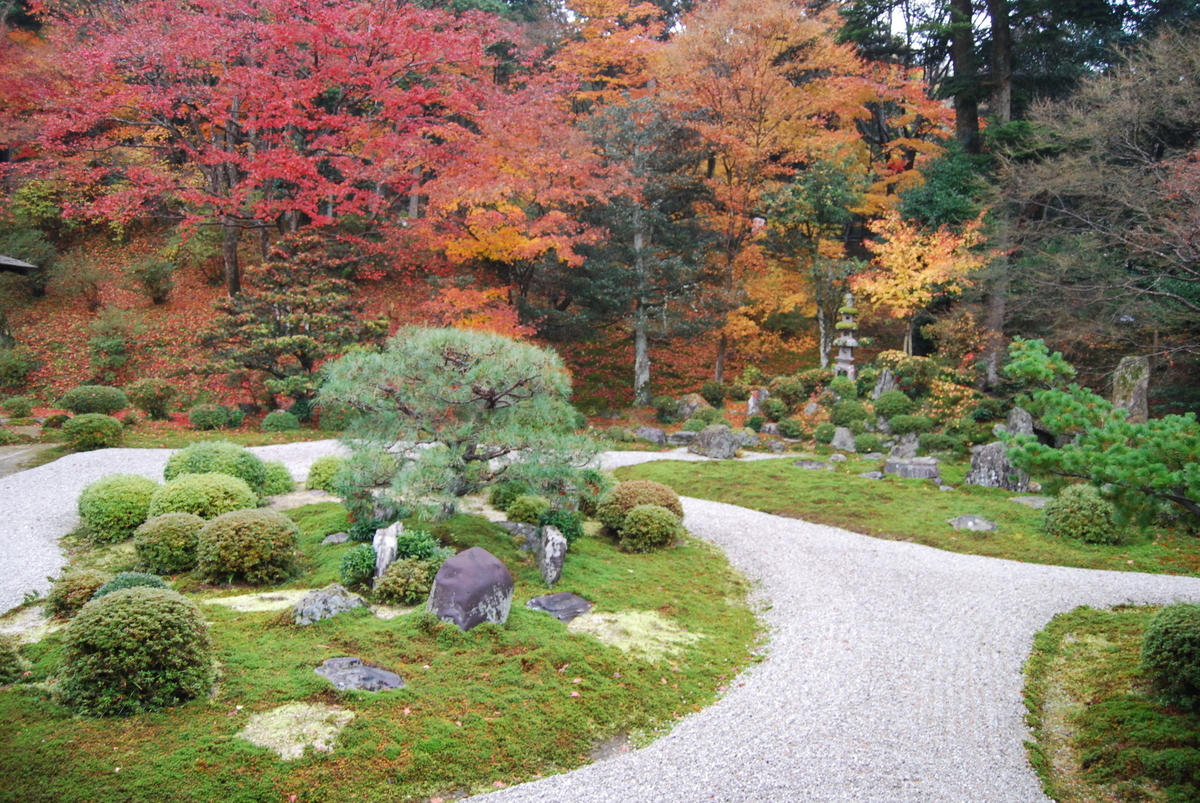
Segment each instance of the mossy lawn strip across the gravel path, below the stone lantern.
M856 533L1026 563L1200 575L1200 539L1162 532L1132 532L1120 546L1051 538L1042 511L1010 502L1021 496L961 485L966 467L943 463L954 491L922 480L857 474L882 461L851 460L835 472L797 468L790 460L756 462L659 461L618 469L620 479L656 480L683 496L738 504L752 510L841 527ZM976 514L998 525L986 533L955 531L948 519Z

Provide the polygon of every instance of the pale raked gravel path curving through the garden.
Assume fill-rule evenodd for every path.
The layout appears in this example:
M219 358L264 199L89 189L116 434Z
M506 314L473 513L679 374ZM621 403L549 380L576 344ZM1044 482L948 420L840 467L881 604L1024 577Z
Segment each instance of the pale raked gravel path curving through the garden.
M256 451L300 477L334 448ZM58 570L84 485L158 477L167 454L74 455L0 479L0 609ZM604 465L672 456L608 453ZM650 747L488 803L1040 803L1022 745L1034 634L1079 605L1200 601L1200 579L955 555L700 499L684 509L692 533L758 581L766 660Z

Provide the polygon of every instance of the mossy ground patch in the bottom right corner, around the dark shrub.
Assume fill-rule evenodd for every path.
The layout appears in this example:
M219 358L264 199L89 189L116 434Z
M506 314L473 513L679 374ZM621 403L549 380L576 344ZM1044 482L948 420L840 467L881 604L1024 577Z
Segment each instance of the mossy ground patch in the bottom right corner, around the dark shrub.
M1079 607L1034 640L1027 747L1060 803L1200 799L1200 717L1156 703L1138 671L1156 610Z

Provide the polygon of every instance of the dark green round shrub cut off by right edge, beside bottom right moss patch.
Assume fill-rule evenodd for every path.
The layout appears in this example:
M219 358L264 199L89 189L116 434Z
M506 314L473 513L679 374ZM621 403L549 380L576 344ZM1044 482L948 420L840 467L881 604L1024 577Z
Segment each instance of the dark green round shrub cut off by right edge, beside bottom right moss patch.
M1141 671L1166 703L1200 713L1200 605L1168 605L1150 619Z

